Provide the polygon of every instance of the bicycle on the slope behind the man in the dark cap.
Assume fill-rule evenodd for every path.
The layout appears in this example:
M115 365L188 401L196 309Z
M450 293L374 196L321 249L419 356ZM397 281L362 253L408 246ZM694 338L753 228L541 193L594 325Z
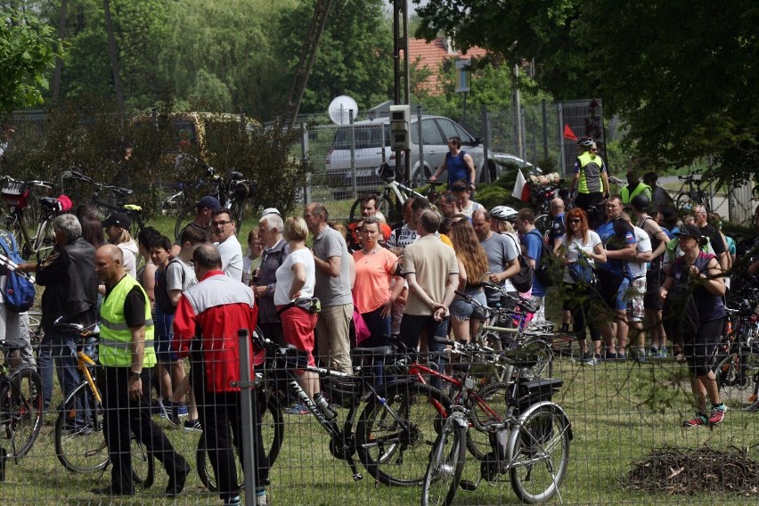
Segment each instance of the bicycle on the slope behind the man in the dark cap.
M246 203L249 197L256 192L256 184L248 179L244 179L241 172L234 170L229 173L228 181L218 174L214 167L207 167L206 171L211 177L213 184L216 185L216 191L212 194L219 200L222 208L231 211L232 219L236 225L234 233L235 235L239 235L242 228L242 220L245 219ZM187 192L184 192L184 190L175 193L169 199L184 203L184 208L179 213L179 217L176 218L176 224L174 225L174 235L178 238L184 227L195 219L197 211L196 203L190 201Z

